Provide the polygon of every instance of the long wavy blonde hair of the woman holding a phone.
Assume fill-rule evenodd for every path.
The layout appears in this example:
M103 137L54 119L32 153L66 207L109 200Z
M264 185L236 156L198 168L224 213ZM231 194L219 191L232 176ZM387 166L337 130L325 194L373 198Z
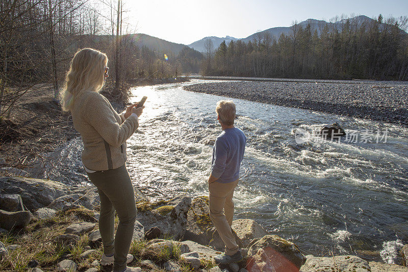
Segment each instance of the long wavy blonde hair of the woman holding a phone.
M108 57L92 48L75 53L61 91L62 110L70 111L81 92L99 91L104 86L107 63Z

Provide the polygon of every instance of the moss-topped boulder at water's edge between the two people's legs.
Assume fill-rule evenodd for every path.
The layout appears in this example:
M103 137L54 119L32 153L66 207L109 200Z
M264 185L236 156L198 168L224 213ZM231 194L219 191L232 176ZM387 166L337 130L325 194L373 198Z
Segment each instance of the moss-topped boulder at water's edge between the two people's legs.
M137 220L145 229L158 227L162 232L162 237L177 240L186 232L187 212L190 205L191 198L184 195L157 203L139 202Z

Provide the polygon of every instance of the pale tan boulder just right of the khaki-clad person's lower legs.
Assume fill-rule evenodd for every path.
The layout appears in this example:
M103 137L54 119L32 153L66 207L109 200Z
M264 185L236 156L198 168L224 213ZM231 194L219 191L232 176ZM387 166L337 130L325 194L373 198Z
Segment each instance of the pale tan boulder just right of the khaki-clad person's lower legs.
M268 234L261 225L252 219L234 220L231 227L241 239L244 248L246 248L253 239L262 238Z

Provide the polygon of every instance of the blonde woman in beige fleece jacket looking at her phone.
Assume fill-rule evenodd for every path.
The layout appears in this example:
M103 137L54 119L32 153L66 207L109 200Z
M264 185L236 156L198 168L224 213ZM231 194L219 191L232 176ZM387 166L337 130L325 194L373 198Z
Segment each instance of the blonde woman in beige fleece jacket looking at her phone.
M136 104L119 115L101 94L108 77L108 58L85 48L75 54L63 90L63 110L72 114L73 125L82 136L82 162L100 196L99 232L104 245L101 265L113 263L113 271L140 271L127 267L127 254L137 216L132 181L125 167L126 140L139 126L143 108ZM119 226L115 232L115 210Z

